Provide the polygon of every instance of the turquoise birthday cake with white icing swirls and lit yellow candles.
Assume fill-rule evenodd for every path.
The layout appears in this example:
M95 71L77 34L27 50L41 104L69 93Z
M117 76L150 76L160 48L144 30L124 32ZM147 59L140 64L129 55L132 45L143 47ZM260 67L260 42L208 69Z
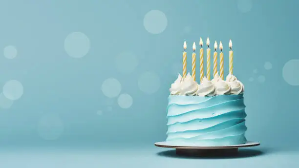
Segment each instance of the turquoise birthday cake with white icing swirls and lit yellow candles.
M207 42L208 43L208 42ZM230 41L230 73L223 79L223 53L220 42L220 76L217 72L217 44L214 52L214 78L210 80L210 51L207 49L207 77L203 75L203 50L200 50L200 83L195 80L195 44L192 75L186 74L183 53L183 76L171 84L168 98L166 141L180 146L231 146L245 144L244 85L233 75L233 51ZM202 46L202 44L201 44ZM186 49L186 43L184 44Z

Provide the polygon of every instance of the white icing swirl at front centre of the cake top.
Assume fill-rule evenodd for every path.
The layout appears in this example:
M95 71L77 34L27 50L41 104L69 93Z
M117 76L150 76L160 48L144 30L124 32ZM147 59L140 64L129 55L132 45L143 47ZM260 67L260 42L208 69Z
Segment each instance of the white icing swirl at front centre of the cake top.
M212 81L209 81L206 77L202 79L202 83L198 85L196 93L198 96L215 96L216 89Z

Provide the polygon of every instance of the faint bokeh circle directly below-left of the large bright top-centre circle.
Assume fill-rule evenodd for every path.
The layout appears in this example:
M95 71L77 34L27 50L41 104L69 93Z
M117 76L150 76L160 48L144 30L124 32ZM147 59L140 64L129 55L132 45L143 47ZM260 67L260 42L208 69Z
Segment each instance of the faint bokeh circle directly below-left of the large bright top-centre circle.
M116 68L122 73L131 73L138 65L137 56L128 51L120 53L115 60Z

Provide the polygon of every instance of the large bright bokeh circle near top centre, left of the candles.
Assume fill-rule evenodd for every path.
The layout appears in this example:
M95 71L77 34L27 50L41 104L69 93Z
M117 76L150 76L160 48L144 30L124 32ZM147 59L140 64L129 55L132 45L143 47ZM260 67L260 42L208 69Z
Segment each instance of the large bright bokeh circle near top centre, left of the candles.
M144 16L143 25L149 33L159 34L166 29L167 17L159 10L151 10Z

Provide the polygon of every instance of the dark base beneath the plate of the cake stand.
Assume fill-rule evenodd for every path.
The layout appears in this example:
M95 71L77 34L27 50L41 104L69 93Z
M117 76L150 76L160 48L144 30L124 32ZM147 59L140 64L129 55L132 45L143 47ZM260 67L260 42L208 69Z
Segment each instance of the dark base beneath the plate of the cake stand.
M231 156L238 153L238 148L229 149L175 149L175 154L183 156Z

